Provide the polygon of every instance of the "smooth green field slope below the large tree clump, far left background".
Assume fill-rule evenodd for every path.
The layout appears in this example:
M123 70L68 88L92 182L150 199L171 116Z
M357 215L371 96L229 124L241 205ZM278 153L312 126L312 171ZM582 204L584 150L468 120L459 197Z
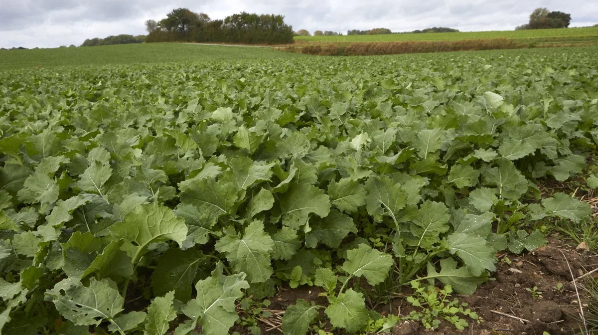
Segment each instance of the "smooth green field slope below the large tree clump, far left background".
M271 59L296 57L270 48L220 47L181 43L106 45L0 51L0 71L8 69L83 65L118 65L206 60Z

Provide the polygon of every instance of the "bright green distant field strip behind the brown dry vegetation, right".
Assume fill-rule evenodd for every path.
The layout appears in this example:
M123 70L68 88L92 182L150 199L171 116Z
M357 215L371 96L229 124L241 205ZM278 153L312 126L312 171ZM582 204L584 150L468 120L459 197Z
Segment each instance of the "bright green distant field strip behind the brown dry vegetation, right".
M295 36L295 41L310 42L395 42L395 41L458 41L462 39L556 39L566 42L569 38L598 38L598 27L568 29L537 29L529 31L488 31L488 32L441 32L441 33L397 33L392 35L350 35L350 36Z

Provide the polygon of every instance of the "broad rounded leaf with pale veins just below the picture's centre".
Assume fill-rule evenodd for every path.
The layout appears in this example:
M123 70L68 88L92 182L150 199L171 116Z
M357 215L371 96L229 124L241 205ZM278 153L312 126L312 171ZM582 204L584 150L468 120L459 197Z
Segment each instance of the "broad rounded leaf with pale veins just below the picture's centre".
M329 197L313 185L292 184L279 201L282 224L295 230L307 223L310 214L324 218L330 212Z

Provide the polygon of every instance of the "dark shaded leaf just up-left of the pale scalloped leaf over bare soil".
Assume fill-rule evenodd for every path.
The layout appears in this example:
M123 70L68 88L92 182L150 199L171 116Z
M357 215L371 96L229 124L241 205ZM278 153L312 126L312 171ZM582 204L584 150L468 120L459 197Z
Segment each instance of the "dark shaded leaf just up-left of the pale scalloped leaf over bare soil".
M310 229L305 236L305 245L308 248L316 248L318 243L338 248L350 232L357 232L353 218L336 209L332 209L324 219L312 221Z

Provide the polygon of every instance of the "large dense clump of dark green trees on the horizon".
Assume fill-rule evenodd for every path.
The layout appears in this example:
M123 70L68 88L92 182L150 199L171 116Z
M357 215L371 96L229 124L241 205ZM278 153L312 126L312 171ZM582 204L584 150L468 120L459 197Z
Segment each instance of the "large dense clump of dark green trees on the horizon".
M205 13L176 8L160 21L147 20L146 42L225 42L285 44L293 42L292 27L282 15L240 13L212 20Z

